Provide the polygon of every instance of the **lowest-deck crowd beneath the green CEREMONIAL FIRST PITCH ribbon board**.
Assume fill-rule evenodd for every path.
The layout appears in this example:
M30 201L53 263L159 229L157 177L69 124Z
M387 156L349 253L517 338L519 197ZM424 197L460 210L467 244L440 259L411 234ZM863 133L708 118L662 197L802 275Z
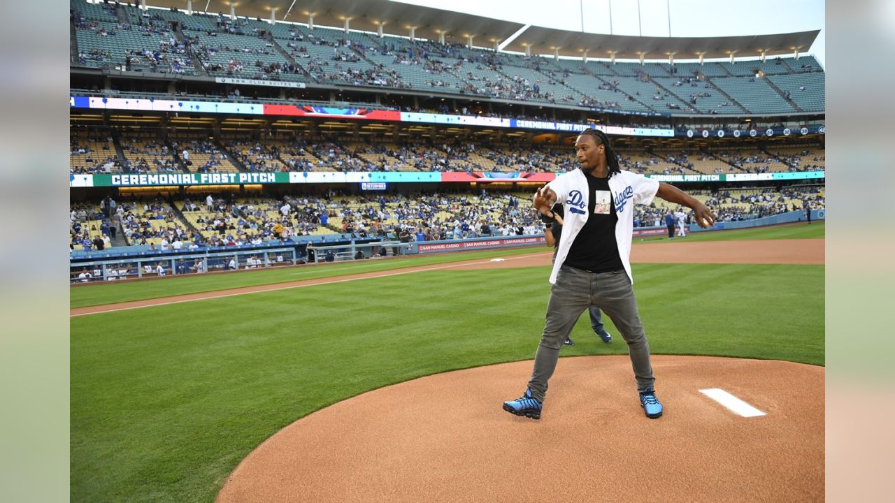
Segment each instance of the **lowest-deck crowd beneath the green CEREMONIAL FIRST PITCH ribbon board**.
M823 209L823 186L691 191L718 216L718 221L748 220L789 211ZM149 251L192 250L203 247L294 243L299 236L352 234L385 240L439 241L487 236L541 234L543 225L531 208L527 192L413 192L408 194L238 198L232 194L176 202L175 211L162 197L153 200L111 198L98 206L72 203L72 249L104 250L115 237L115 222L125 243L149 246ZM663 226L669 212L692 212L661 200L635 207L635 226ZM182 217L183 216L183 217Z

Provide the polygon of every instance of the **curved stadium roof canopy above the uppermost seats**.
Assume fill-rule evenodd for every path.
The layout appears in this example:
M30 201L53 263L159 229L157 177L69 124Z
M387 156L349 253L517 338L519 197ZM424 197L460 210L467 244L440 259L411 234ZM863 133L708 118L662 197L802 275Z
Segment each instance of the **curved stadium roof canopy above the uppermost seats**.
M186 0L149 0L158 7L186 8ZM271 9L276 9L277 21L307 23L313 15L315 25L341 28L348 20L352 30L377 31L382 24L384 33L407 36L413 27L414 36L438 40L446 33L446 40L465 44L473 36L473 45L493 47L510 38L523 24L512 21L456 13L420 5L403 4L392 0L194 0L192 8L209 13L230 13L235 5L238 16L270 19ZM525 52L531 47L532 54L581 56L587 50L589 57L615 57L622 59L695 59L765 55L789 55L794 51L805 52L814 43L820 30L798 31L774 35L747 35L738 37L632 37L586 33L575 30L556 30L531 26L515 38L504 50Z

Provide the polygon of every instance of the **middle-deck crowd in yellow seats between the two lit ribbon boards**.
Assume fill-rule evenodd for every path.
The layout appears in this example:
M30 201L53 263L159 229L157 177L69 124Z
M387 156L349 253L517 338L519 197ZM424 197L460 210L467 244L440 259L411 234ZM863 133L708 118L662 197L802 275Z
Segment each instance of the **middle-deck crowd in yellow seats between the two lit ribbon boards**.
M289 171L475 171L565 173L578 164L569 146L515 139L476 141L465 138L416 138L398 142L367 139L342 143L337 134L224 137L224 149L208 139L172 139L173 149L146 133L121 138L125 158L115 155L110 136L71 138L71 173L251 173ZM101 145L101 147L100 147ZM103 149L96 155L97 149ZM774 149L774 147L768 147ZM183 153L181 153L183 150ZM660 151L661 150L661 151ZM189 153L194 154L189 158ZM231 165L228 153L240 167ZM823 147L718 150L652 150L630 144L617 147L619 165L640 174L693 175L823 170ZM372 154L372 155L370 155ZM176 158L180 155L181 158Z

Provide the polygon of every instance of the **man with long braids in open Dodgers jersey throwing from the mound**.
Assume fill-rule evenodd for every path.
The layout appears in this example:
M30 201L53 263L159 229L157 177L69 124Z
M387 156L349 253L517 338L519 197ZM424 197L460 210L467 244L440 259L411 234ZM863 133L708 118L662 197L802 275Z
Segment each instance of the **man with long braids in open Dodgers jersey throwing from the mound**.
M559 175L534 195L534 207L542 215L549 215L557 201L561 203L565 226L550 274L553 286L532 379L524 395L504 402L503 408L541 418L559 348L581 313L595 305L625 338L640 405L647 417L657 418L662 415L662 405L656 398L650 346L637 312L629 263L634 205L649 204L658 195L693 209L696 223L704 228L714 225L715 216L703 203L668 183L621 171L609 138L601 131L582 132L575 141L575 152L581 169Z

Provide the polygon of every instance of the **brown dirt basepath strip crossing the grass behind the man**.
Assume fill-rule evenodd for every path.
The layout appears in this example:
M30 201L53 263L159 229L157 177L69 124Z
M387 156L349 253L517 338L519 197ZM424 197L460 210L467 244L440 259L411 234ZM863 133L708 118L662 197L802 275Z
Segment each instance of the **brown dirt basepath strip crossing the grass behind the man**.
M545 247L546 248L546 247ZM229 290L216 290L201 294L175 295L160 299L148 299L128 303L103 304L90 307L74 308L69 311L71 316L83 316L100 312L126 311L141 307L166 305L172 303L186 303L217 297L229 297L233 295L253 294L257 292L269 292L284 290L287 288L301 288L303 286L322 285L326 283L344 283L370 277L388 277L414 272L423 272L440 269L491 269L491 268L521 268L532 266L549 266L552 253L543 252L526 253L524 255L510 255L502 261L491 260L464 260L434 266L410 267L405 269L386 270L364 274L352 274L340 277L325 277L320 279L307 279L275 285L246 286ZM766 241L717 241L717 242L662 242L662 243L635 243L631 250L632 262L650 263L775 263L775 264L823 264L823 239L776 239ZM162 279L164 280L164 279Z

